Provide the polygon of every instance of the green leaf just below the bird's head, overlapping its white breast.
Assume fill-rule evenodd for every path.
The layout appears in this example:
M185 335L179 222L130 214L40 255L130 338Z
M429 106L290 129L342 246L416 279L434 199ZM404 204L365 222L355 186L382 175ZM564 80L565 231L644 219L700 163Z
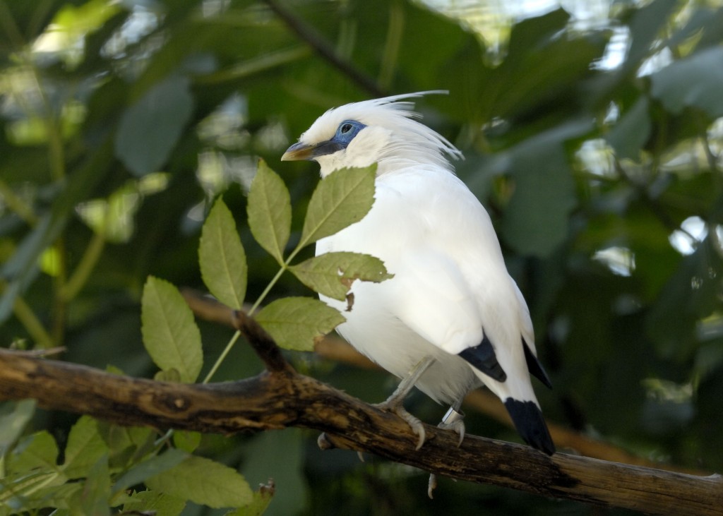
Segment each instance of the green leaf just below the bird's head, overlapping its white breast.
M377 165L342 168L319 181L309 201L299 248L359 222L374 204Z

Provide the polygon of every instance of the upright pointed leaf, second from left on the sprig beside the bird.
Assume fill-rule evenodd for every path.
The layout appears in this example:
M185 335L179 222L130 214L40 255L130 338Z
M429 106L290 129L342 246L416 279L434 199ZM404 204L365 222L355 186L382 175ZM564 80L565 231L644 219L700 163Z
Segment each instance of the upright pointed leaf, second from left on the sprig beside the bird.
M238 310L244 304L248 268L231 210L219 198L201 232L198 249L201 277L221 303Z

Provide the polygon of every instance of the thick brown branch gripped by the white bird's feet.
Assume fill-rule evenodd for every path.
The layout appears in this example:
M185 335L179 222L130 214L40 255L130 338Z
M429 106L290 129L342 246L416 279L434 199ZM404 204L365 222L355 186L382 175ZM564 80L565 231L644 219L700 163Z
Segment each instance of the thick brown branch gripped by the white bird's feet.
M247 319L248 324L254 324ZM0 400L32 397L43 408L125 426L231 434L299 426L335 446L387 457L466 481L651 514L723 515L723 478L690 476L467 436L425 426L427 442L401 418L296 373L291 366L221 384L176 384L0 351Z

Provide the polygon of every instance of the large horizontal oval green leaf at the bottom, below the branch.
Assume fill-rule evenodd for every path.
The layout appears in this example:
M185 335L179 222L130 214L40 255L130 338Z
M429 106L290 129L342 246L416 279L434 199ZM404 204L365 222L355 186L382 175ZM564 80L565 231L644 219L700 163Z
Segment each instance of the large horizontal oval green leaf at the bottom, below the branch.
M253 500L251 488L240 473L204 457L188 457L174 468L148 478L145 484L154 491L213 509L240 507Z

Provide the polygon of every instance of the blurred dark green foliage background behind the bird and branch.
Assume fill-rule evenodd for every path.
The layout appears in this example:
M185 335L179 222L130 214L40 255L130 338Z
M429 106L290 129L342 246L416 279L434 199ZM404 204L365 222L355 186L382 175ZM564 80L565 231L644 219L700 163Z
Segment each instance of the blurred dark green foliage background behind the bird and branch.
M317 116L447 89L418 107L466 155L458 174L529 303L549 421L720 471L722 42L713 0L0 0L0 344L152 376L142 285L202 288L215 197L237 216L254 298L275 272L245 223L257 158L288 184L298 231L317 166L278 160ZM274 292L291 294L309 292L291 278ZM212 364L231 330L201 324ZM289 358L369 402L393 388ZM261 369L239 345L216 379ZM427 421L444 410L408 405ZM75 418L34 424L63 442ZM475 413L467 428L518 440ZM273 515L601 512L443 479L429 501L424 472L322 453L316 437L207 436L201 452L252 486L275 478Z

